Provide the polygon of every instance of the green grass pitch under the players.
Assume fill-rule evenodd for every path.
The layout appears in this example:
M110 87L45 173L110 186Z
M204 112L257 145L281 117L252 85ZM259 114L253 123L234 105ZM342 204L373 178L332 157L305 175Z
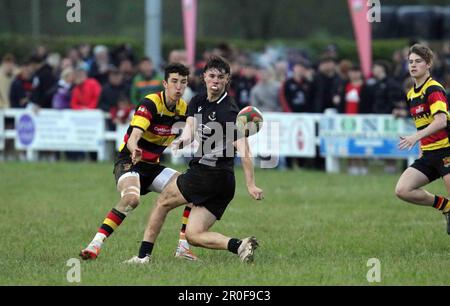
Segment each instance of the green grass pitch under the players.
M0 285L71 285L70 267L115 205L111 164L0 163ZM201 262L174 258L182 208L173 211L150 265L121 264L137 253L155 195L83 262L81 285L450 285L450 237L442 215L393 195L396 175L352 177L260 170L263 202L251 201L237 171L235 200L213 229L260 241L254 264L196 248ZM442 182L429 187L442 194Z

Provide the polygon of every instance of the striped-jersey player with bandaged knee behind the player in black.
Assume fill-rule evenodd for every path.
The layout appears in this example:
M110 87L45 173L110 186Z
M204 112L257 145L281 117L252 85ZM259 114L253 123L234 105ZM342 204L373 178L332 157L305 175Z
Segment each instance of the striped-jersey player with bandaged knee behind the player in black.
M186 121L187 103L181 98L187 87L189 69L170 64L165 69L164 91L147 95L136 107L117 155L114 174L119 203L106 216L91 243L81 251L83 259L95 259L105 241L134 210L140 196L161 192L179 173L159 163L164 149L175 139L174 125ZM191 208L186 206L175 256L196 260L184 232Z

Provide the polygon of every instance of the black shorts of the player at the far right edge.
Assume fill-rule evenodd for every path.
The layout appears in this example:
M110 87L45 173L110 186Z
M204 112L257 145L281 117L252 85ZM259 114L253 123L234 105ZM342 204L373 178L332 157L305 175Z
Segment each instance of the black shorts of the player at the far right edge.
M411 167L425 174L430 182L443 177L450 173L450 148L423 151Z

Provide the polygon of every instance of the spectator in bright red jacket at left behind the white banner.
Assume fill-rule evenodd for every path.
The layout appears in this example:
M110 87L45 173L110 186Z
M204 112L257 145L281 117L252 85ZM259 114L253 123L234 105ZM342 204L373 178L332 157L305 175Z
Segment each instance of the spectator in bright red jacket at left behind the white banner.
M75 70L75 88L72 92L70 106L72 109L96 109L102 91L100 83L94 78L88 78L83 67Z

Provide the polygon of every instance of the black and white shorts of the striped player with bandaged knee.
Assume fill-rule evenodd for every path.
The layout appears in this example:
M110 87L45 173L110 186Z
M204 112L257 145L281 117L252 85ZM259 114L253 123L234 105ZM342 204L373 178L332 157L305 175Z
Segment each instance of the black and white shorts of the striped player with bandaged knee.
M139 174L141 195L145 195L151 191L161 192L173 174L176 173L175 170L166 168L160 164L140 162L133 165L130 156L124 156L119 153L114 162L113 171L116 178L116 185L122 175L133 172Z

